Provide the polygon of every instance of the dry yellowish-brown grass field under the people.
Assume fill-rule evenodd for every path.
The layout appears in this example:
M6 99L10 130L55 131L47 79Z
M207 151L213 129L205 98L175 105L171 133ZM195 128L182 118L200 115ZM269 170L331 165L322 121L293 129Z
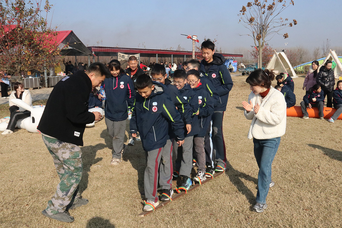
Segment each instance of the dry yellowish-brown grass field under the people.
M80 190L90 203L70 210L75 222L66 224L41 214L59 182L41 135L26 130L0 135L0 227L342 227L342 120L288 117L273 162L268 208L250 211L258 166L247 139L250 121L242 113L241 102L250 93L245 78L233 77L224 115L227 172L144 218L137 216L145 169L141 142L129 147L120 165L110 166L105 122L86 129ZM297 105L305 94L303 81L294 79ZM1 105L0 116L8 115L8 105Z

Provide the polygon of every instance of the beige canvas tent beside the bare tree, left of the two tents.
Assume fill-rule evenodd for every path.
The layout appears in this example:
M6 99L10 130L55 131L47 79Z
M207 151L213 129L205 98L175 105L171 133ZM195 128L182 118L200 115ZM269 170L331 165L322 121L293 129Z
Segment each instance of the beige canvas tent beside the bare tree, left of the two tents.
M297 78L296 73L294 72L289 59L286 57L284 52L276 52L274 51L274 55L271 58L271 61L267 64L267 69L273 70L276 74L279 73L287 73L291 78Z

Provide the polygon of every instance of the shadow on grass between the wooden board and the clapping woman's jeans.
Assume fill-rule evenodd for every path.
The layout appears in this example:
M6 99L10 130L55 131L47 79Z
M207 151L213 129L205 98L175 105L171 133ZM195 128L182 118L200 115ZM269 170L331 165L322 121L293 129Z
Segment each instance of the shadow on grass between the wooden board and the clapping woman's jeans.
M229 177L229 180L233 185L237 188L239 192L245 195L246 199L251 205L255 204L255 196L251 190L249 190L246 185L242 182L241 178L253 182L254 184L258 184L258 178L251 177L246 173L242 173L233 168L233 166L227 161L226 164L227 171L226 175Z

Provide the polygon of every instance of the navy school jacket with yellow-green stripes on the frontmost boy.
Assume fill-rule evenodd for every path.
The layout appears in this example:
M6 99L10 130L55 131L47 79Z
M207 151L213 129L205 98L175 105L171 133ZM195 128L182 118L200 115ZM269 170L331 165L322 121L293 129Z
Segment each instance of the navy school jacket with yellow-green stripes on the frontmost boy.
M130 134L139 131L143 149L151 151L166 145L169 124L176 140L184 140L184 123L170 97L164 93L165 85L153 82L155 89L148 98L136 93L130 121Z

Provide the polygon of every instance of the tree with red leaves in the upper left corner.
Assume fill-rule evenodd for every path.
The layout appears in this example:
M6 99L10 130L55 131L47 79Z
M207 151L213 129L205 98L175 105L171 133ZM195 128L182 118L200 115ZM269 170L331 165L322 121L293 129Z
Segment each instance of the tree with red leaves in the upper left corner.
M0 68L10 75L22 71L42 70L52 65L60 54L56 43L57 33L50 28L46 14L52 5L49 1L0 1Z

